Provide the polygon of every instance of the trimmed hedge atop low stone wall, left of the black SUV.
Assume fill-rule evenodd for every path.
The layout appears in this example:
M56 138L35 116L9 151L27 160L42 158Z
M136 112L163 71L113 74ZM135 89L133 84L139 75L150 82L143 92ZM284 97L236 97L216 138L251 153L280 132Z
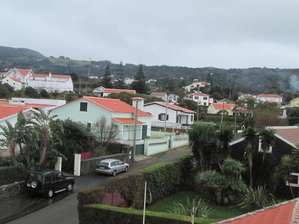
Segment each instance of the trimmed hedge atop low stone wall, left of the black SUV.
M0 167L0 186L24 180L27 171L21 165Z

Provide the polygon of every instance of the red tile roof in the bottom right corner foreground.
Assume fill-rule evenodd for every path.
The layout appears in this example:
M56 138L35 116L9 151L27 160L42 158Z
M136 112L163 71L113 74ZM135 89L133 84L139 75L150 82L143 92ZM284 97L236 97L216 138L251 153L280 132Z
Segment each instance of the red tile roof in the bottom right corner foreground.
M298 223L298 198L268 208L248 212L217 224L295 224ZM216 224L216 223L214 223Z

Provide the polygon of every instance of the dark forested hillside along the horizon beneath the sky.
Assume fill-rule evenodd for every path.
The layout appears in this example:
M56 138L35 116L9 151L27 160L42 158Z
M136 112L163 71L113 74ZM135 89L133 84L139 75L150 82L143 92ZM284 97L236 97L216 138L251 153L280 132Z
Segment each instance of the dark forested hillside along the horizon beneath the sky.
M126 59L123 59L125 62ZM79 76L88 75L88 61L78 61L69 57L53 56L45 57L42 54L25 49L0 47L0 70L5 68L18 67L21 69L32 69L35 73L69 74L75 72ZM118 71L118 64L110 61L91 61L91 75L102 77L105 66L109 65L114 77ZM126 77L132 78L138 70L138 65L125 64L124 72ZM169 78L180 80L180 85L190 84L193 79L199 81L208 81L213 85L213 92L221 92L217 88L222 88L229 93L232 91L243 93L287 93L297 92L299 86L298 69L280 69L280 68L244 68L244 69L221 69L215 67L189 68L177 66L146 66L144 72L148 79L161 79L156 83L167 85ZM209 75L213 73L212 75ZM183 79L181 79L183 78ZM227 93L227 94L228 94ZM227 95L226 94L226 95Z

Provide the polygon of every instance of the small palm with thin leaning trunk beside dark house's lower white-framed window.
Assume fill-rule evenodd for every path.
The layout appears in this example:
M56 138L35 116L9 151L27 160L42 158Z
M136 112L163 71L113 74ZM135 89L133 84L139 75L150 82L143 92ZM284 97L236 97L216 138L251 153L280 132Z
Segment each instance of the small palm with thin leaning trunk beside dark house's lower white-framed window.
M290 182L292 180L292 172L294 172L295 169L295 163L293 161L292 156L290 155L283 155L280 159L279 169L280 174L284 182L289 183L289 188L292 194L292 197L295 198L292 187L290 185Z

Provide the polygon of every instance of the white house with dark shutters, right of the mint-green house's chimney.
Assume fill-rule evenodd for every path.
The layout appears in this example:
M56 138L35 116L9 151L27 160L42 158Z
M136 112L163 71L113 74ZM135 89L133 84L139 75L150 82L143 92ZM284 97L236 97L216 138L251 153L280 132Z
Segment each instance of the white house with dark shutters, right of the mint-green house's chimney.
M152 126L164 127L165 119L166 126L168 128L181 128L181 125L190 126L193 124L194 111L182 108L176 105L167 105L166 114L166 102L152 102L144 104L144 111L153 115Z

